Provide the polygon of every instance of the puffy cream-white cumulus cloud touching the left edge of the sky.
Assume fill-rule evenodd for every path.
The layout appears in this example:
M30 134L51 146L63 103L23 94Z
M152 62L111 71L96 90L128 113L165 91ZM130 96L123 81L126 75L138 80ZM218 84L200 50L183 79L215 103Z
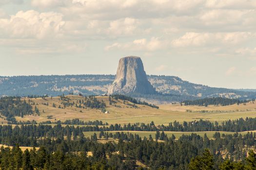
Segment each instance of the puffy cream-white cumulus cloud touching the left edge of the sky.
M19 11L10 18L0 19L0 37L38 39L58 37L61 35L64 23L59 13Z

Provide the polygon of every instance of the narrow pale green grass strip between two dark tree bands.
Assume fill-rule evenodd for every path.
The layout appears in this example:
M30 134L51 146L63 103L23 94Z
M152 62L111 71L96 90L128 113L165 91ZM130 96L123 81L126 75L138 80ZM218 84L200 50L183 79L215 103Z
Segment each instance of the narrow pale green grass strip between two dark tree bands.
M115 134L116 132L123 132L123 133L131 133L131 134L137 134L139 135L141 138L143 138L144 136L149 137L149 135L151 135L153 138L155 138L156 132L141 132L141 131L110 131L108 133L112 133ZM248 132L256 132L256 131L246 131L246 132L239 132L239 134L247 134ZM85 137L91 137L92 135L94 135L94 133L97 134L97 136L99 135L100 132L83 132ZM160 132L161 133L161 132ZM206 134L209 138L213 138L213 135L216 132L164 132L168 137L171 137L172 135L175 135L176 139L178 139L180 136L182 135L191 135L193 134L197 134L199 136L204 136L204 134ZM219 132L220 134L235 134L235 132Z

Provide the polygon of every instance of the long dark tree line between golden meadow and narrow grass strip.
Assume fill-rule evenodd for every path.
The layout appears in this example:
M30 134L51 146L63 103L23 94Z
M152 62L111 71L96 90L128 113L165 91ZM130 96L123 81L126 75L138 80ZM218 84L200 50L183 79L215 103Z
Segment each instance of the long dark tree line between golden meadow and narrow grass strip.
M184 121L180 124L177 121L169 123L169 125L158 125L154 122L135 123L127 125L124 124L110 124L108 126L87 126L86 131L175 131L175 132L205 132L205 131L226 131L226 132L243 132L243 131L254 131L256 130L256 118L226 120L221 124L216 122L210 122L208 120L199 121Z

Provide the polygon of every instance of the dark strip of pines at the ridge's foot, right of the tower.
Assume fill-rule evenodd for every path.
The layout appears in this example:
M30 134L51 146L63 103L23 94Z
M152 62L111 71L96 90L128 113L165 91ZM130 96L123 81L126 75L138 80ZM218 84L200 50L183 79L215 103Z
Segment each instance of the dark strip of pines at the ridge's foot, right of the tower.
M252 102L255 101L255 99L250 100ZM204 99L197 99L197 100L188 100L184 101L184 105L198 105L198 106L205 106L207 107L208 105L221 105L221 106L226 106L226 105L233 105L237 104L239 105L240 103L246 103L250 102L248 100L238 100L238 99L229 99L229 98L222 98L222 97L215 97L215 98L204 98Z

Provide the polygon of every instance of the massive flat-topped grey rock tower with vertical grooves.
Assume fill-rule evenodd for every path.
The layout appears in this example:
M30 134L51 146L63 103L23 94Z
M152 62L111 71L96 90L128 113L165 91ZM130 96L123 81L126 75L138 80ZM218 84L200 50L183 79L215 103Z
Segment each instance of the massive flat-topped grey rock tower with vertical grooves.
M156 93L147 79L141 59L136 56L128 56L119 60L116 79L108 89L108 94L128 93Z

